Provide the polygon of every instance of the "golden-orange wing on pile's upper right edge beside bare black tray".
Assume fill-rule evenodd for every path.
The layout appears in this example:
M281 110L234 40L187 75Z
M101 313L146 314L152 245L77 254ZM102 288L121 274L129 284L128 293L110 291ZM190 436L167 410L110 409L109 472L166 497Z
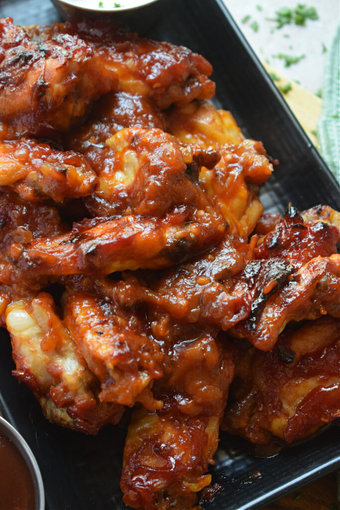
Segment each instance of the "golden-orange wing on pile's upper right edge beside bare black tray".
M199 182L223 217L229 233L247 237L263 213L258 187L273 171L261 142L245 140L232 115L201 101L175 108L167 117L168 130L186 143L218 149L221 160L200 171Z

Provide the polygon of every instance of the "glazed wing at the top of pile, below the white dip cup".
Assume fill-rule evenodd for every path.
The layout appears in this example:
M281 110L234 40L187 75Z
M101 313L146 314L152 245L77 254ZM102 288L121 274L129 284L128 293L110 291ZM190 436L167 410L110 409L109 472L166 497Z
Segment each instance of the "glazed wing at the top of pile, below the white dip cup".
M43 32L48 39L59 34L81 38L105 70L117 75L116 90L144 96L161 110L215 94L208 78L211 64L183 46L139 38L102 21L54 23Z

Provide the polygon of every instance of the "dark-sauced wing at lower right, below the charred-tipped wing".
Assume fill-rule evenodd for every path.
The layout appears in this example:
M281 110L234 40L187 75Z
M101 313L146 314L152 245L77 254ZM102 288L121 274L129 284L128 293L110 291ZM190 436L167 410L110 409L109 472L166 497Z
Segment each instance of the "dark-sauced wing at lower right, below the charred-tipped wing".
M340 416L340 321L286 330L270 352L234 344L236 376L222 428L254 443L303 439Z

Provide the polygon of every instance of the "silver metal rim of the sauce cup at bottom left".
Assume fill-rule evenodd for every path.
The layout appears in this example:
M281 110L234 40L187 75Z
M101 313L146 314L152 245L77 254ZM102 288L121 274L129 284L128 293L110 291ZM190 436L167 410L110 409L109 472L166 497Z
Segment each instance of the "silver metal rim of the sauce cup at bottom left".
M0 416L0 431L16 446L21 453L24 462L29 468L35 497L35 510L44 510L45 508L45 492L44 484L38 463L27 442L21 434L11 425L5 418Z

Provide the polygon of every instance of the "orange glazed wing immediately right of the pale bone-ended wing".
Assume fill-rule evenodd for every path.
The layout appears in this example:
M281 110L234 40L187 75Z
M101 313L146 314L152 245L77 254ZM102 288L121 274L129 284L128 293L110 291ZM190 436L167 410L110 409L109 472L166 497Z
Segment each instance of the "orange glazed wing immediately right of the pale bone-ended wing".
M161 349L133 311L79 291L69 290L63 299L72 340L100 381L99 400L159 409L150 386L163 375Z

